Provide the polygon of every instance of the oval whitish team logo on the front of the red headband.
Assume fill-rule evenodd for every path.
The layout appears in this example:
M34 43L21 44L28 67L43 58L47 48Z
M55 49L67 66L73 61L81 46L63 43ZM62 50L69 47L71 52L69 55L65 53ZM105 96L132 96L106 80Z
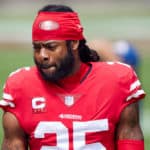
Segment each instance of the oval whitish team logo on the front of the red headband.
M45 31L57 30L59 28L59 24L52 20L45 20L40 23L40 29Z

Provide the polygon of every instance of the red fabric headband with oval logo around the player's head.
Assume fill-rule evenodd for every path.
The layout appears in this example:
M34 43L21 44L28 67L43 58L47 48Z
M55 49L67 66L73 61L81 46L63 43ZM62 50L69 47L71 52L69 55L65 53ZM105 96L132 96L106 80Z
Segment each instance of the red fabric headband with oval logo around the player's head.
M32 40L81 40L82 33L77 13L40 12L33 23Z

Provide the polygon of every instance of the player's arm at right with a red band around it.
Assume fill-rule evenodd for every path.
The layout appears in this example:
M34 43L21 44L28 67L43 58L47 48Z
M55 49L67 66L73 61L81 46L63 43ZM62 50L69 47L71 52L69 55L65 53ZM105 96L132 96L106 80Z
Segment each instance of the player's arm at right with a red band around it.
M130 104L123 110L116 136L118 150L144 150L144 137L140 127L138 103Z

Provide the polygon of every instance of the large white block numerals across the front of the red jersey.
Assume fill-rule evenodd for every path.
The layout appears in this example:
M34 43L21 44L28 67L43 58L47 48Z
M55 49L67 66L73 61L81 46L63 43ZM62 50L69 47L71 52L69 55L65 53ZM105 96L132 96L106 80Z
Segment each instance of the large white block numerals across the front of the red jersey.
M74 150L106 150L101 143L86 144L85 134L108 130L108 119L73 122L73 149ZM62 122L40 122L34 132L35 138L44 138L45 134L55 133L57 146L42 146L41 150L69 150L69 132Z

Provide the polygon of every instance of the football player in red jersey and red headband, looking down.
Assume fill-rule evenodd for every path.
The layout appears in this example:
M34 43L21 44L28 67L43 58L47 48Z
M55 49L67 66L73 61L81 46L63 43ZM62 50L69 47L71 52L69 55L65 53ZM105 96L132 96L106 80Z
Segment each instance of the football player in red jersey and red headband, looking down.
M32 43L36 65L4 86L2 150L144 150L141 83L129 65L99 62L76 12L42 8Z

